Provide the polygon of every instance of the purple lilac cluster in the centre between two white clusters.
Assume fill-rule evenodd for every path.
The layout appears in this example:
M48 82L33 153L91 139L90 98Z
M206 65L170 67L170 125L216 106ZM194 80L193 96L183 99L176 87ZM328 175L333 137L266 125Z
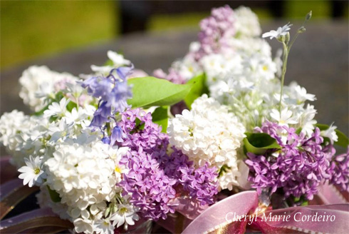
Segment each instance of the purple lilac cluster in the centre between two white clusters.
M119 185L131 194L130 202L144 217L165 219L167 213L175 212L170 201L180 195L189 195L201 205L213 203L217 168L205 165L195 169L182 152L172 148L172 153L167 153L167 135L152 122L150 113L139 108L123 112L119 124L126 136L118 144L130 148L120 161L130 170Z

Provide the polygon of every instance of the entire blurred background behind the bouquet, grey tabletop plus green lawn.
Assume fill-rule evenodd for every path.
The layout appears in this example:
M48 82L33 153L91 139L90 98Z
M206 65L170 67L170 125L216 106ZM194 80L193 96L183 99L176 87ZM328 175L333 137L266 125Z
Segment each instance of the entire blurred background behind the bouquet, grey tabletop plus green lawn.
M297 81L316 94L318 123L335 123L349 135L348 1L0 1L0 115L19 109L18 79L31 65L78 76L118 51L136 68L165 71L197 40L199 21L212 7L249 6L262 30L294 25L291 36L313 11L306 33L288 58L286 83ZM268 41L270 41L268 39ZM281 47L270 44L273 53Z

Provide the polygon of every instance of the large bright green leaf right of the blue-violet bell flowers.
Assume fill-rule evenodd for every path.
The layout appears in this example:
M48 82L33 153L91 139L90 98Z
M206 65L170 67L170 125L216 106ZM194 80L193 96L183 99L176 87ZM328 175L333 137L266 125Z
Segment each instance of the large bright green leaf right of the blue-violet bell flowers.
M182 101L192 89L192 83L175 84L161 78L130 78L133 97L127 100L132 107L171 106Z

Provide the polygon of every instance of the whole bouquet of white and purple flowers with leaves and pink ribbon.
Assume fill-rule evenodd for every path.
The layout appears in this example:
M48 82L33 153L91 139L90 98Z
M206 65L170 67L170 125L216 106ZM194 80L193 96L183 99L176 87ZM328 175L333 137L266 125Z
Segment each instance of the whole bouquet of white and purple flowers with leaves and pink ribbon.
M1 185L1 218L33 192L40 209L5 217L1 231L147 233L155 221L176 233L343 233L345 200L303 208L343 199L336 188L348 191L349 151L336 155L334 145L349 141L316 122L313 94L284 85L306 31L291 39L291 26L262 35L282 45L272 58L257 16L224 6L168 73L148 76L113 51L79 78L28 68L19 96L33 114L0 118L20 179ZM334 227L263 220L314 210L337 215Z

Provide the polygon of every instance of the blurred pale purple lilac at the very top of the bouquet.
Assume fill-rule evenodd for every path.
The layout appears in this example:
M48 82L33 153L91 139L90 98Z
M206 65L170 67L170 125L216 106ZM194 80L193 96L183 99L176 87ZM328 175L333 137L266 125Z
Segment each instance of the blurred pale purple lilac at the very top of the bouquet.
M229 47L228 41L235 34L234 11L230 6L212 9L211 16L200 22L200 49L195 54L200 59L206 54L219 53Z

